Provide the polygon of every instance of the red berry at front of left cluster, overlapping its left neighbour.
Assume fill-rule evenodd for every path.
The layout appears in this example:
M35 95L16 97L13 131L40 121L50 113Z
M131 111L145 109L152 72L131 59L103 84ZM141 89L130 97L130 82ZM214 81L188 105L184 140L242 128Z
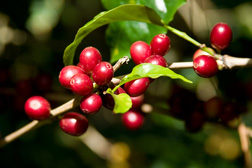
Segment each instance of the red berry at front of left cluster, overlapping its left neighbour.
M83 73L74 75L70 80L71 90L81 96L89 95L93 90L93 82L89 76Z

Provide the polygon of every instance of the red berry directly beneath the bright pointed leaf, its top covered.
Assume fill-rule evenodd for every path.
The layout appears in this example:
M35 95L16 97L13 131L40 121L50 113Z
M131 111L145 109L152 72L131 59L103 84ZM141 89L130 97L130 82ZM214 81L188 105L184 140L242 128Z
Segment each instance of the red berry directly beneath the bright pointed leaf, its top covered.
M149 78L140 78L124 84L124 90L130 96L135 97L143 94L149 87Z

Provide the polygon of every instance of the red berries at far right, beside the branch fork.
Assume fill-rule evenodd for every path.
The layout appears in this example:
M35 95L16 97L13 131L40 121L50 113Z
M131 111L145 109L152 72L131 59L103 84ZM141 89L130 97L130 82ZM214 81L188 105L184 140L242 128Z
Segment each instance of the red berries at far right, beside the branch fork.
M218 52L226 49L232 40L232 30L225 23L217 23L211 30L210 42ZM211 48L208 48L211 50ZM207 52L197 50L193 56L193 69L201 77L210 78L219 68L216 58Z

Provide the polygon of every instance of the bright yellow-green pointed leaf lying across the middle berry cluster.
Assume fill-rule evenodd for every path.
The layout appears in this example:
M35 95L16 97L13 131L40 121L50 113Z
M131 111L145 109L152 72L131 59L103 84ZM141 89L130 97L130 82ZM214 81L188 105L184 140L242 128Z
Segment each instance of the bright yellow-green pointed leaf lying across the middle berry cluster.
M181 79L184 82L192 83L192 81L186 79L184 76L180 74L175 73L169 68L165 68L160 65L154 65L150 63L143 63L143 64L138 64L137 66L135 66L132 72L126 75L120 81L120 83L112 90L112 92L114 92L118 87L122 86L126 82L129 82L135 79L144 78L144 77L156 79L161 76L170 77L172 79Z

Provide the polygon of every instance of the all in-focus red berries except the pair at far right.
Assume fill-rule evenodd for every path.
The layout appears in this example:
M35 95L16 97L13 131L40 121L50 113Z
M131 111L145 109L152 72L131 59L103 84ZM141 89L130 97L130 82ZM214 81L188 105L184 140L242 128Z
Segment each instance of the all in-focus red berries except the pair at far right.
M136 64L152 63L167 67L163 56L170 49L170 39L164 34L155 36L151 44L137 41L130 47L130 54ZM73 93L83 96L80 109L83 113L94 114L103 105L112 110L114 100L104 91L110 86L113 78L113 67L109 62L102 61L100 52L94 47L86 47L79 56L77 65L65 66L59 73L60 84L71 89ZM94 83L96 88L94 88ZM115 94L127 93L132 101L131 109L122 115L122 122L126 128L135 130L142 126L144 114L141 105L144 101L144 92L147 90L151 79L141 78L119 87ZM114 86L112 86L114 87ZM26 114L34 120L44 120L50 116L50 103L41 96L33 96L25 103ZM60 128L70 134L79 136L88 128L87 118L77 112L68 112L60 119Z

